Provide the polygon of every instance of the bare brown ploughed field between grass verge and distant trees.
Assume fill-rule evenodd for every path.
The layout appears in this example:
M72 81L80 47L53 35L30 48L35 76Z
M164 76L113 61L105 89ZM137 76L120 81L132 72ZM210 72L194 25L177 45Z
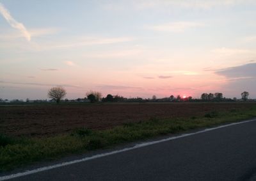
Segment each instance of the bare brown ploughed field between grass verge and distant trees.
M247 109L253 104L63 104L0 106L0 133L12 136L51 136L79 127L108 129L149 118L202 116L211 111Z

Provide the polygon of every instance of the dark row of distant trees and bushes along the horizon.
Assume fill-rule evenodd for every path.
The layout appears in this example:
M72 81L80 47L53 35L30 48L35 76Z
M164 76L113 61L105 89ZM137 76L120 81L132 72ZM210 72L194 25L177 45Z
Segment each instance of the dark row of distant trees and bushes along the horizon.
M59 103L65 95L67 95L67 91L65 88L61 86L51 88L47 93L49 98L52 98L53 101ZM248 99L249 93L248 91L243 91L241 93L242 100L246 101ZM81 99L81 98L79 98ZM82 99L83 100L83 99ZM223 93L202 93L200 98L193 97L174 97L171 95L170 97L157 98L156 95L153 95L152 98L125 98L119 95L111 95L108 94L106 97L102 97L102 93L99 91L88 91L86 93L86 97L84 100L89 100L91 103L93 102L201 102L201 101L236 101L236 98L225 98L223 97Z

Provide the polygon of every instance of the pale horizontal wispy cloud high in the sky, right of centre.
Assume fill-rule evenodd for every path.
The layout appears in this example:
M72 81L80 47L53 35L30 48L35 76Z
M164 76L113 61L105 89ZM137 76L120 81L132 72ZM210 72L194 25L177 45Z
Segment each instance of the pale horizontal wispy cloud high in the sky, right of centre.
M146 28L152 29L154 31L171 31L174 33L182 33L184 31L186 31L186 29L198 28L198 27L202 27L202 26L204 26L204 24L202 24L200 22L180 21L180 22L159 24L156 26L146 26Z

